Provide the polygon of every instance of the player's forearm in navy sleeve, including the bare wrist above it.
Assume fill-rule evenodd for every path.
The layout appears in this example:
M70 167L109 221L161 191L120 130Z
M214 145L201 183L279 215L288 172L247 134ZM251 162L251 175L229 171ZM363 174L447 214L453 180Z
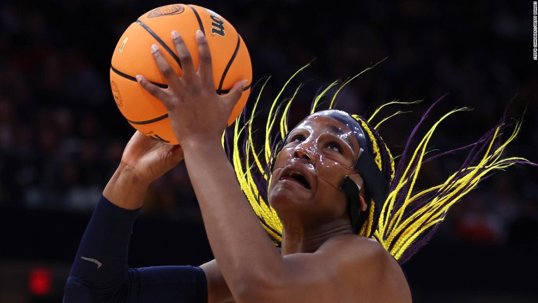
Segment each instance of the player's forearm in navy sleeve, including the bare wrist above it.
M139 274L128 272L129 238L146 188L123 165L112 175L76 252L66 302L82 302L78 297L85 295L130 301L130 284Z

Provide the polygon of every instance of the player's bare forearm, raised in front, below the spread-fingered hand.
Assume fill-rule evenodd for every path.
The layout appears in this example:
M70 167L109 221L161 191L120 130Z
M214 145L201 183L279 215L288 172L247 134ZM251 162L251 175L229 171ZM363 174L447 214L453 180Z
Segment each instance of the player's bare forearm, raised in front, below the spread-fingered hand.
M278 249L241 191L220 142L182 145L211 249L232 293L242 287L237 285L241 278L279 270Z

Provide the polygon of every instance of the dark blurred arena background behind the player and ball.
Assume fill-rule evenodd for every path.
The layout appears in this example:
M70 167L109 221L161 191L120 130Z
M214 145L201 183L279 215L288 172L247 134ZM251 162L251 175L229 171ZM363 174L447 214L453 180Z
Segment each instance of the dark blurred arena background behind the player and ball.
M84 228L134 132L110 90L112 51L138 16L170 3L0 4L0 302L61 301ZM260 101L263 117L288 77L314 59L282 96L305 83L291 124L307 114L318 88L388 57L353 80L337 108L368 115L394 99L423 99L398 108L412 112L381 126L394 155L427 107L449 94L427 123L456 107L473 110L443 122L431 152L475 142L512 100L507 116L525 115L506 155L538 161L532 1L193 4L236 27L250 51L254 82L271 76ZM417 188L442 181L464 155L427 164ZM449 210L430 243L403 266L415 302L538 302L537 176L531 166L498 172ZM211 258L180 164L146 195L130 266L200 265Z

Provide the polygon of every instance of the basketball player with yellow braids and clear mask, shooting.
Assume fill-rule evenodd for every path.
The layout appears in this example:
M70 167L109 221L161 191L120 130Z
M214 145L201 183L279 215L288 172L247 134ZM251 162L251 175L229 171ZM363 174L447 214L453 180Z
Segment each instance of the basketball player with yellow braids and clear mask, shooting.
M482 173L526 161L486 157L447 184L411 196L413 185L407 182L420 171L426 145L417 148L420 159L415 150L412 164L395 170L383 139L364 118L320 111L286 133L269 155L271 208L265 206L263 213L249 194L252 182L244 179L238 163L232 167L221 143L245 82L217 95L202 32L196 33L197 71L181 37L172 37L183 76L152 46L168 88L158 88L141 75L137 80L167 108L181 147L139 132L131 138L84 232L65 302L410 302L399 262L413 252L408 248L418 247L410 246L414 239L444 216L436 209L423 210L436 206L445 213L443 207L475 187ZM403 159L406 153L407 147ZM200 267L128 269L129 236L147 186L183 157L216 260ZM404 212L409 202L419 208Z

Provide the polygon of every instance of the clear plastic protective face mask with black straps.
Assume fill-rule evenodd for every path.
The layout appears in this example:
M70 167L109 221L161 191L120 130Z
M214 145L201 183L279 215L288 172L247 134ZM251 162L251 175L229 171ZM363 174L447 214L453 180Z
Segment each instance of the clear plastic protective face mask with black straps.
M342 124L346 127L337 126ZM364 216L359 218L359 203L355 202L363 186L366 189L364 199L376 201L374 212L381 213L390 184L374 161L372 143L363 126L346 112L318 111L295 126L277 151L273 174L296 163L306 167L317 180L345 193L355 234L365 220Z

